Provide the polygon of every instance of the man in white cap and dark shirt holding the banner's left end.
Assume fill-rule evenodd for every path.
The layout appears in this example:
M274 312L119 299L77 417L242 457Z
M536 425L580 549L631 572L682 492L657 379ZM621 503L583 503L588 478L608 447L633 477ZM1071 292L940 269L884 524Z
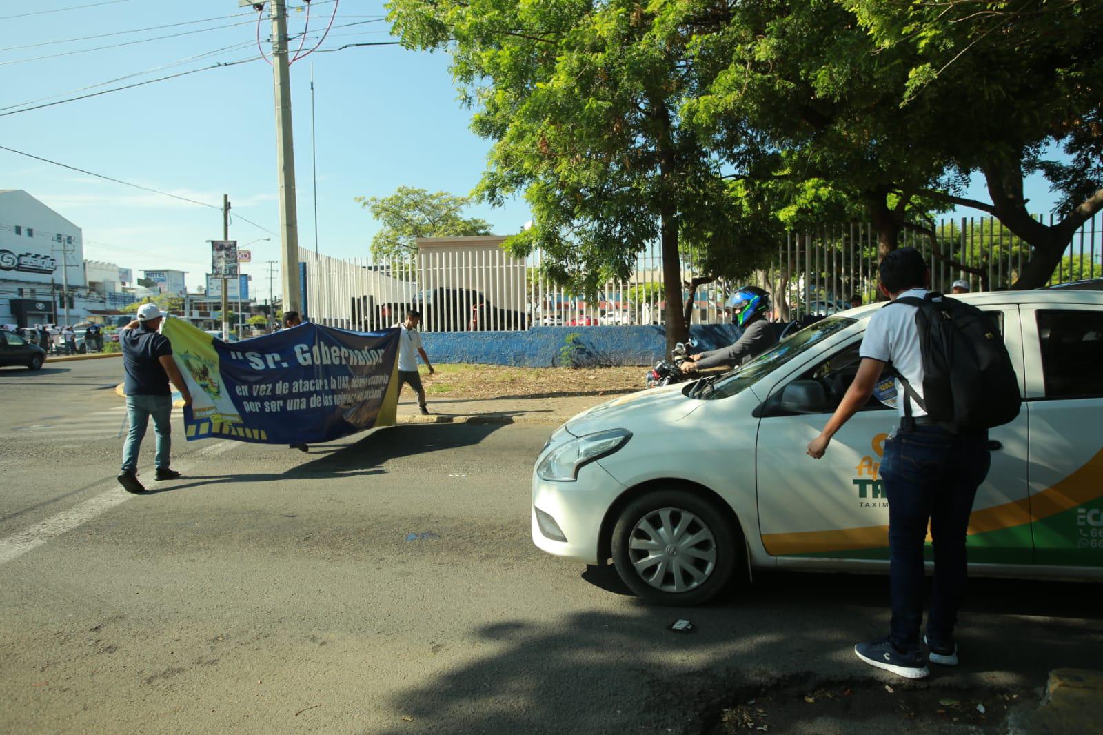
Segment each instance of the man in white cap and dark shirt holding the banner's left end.
M124 393L127 396L130 428L122 447L122 471L118 481L127 492L146 491L144 486L138 481L138 452L150 417L153 418L153 432L157 434L154 478L174 480L180 477L180 472L169 467L169 452L172 448L172 393L169 381L180 391L185 405L191 405L192 394L172 360L172 345L168 338L158 332L163 317L156 303L144 303L138 309L138 319L119 332L122 368L126 371Z

